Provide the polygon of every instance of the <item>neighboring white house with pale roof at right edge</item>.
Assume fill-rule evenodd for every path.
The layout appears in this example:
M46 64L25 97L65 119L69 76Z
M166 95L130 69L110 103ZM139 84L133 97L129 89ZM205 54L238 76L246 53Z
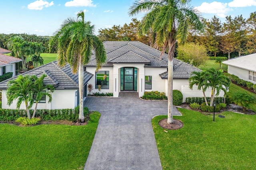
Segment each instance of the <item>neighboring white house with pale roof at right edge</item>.
M228 65L228 73L256 84L256 53L235 57L222 63Z

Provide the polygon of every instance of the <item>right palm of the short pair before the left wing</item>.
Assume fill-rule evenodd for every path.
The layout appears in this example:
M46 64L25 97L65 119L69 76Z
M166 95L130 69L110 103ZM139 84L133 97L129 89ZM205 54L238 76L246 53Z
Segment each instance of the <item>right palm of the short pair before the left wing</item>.
M46 74L43 74L41 77L32 76L34 81L34 88L33 88L33 97L36 101L36 105L34 108L34 113L32 118L36 115L36 108L38 102L42 99L42 97L47 96L48 102L50 103L52 101L52 92L54 91L53 85L44 85L44 78L46 77ZM49 91L44 91L45 89L48 89Z

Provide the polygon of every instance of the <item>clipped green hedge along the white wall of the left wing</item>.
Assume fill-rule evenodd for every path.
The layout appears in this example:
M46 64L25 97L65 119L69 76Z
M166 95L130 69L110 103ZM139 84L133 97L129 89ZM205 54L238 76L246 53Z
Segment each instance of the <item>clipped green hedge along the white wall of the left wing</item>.
M30 110L30 115L34 110ZM89 114L89 109L84 107L84 117ZM41 117L43 121L76 121L79 116L79 106L75 109L37 109L36 117ZM24 109L0 109L0 121L15 121L19 117L27 117Z

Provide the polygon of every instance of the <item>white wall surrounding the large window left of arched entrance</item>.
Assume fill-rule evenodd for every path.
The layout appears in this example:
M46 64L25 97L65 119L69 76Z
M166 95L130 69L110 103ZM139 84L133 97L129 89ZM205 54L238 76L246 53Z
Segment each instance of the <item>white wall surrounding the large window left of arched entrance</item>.
M102 67L101 69L98 70L98 71L109 71L109 89L101 89L101 91L99 91L98 89L95 89L95 85L96 85L96 76L95 76L96 67L86 67L86 71L93 74L93 77L87 82L88 84L93 85L93 90L92 90L91 93L96 93L96 92L99 92L99 93L113 93L113 67Z

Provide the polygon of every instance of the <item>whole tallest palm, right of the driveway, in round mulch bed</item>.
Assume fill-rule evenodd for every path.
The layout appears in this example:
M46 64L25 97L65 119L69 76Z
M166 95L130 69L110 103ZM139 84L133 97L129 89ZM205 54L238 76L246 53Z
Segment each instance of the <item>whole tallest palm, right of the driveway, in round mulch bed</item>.
M190 26L202 30L198 12L187 7L190 0L136 0L130 7L130 16L147 12L142 18L137 34L140 37L148 34L150 29L155 34L155 46L162 47L161 56L168 49L168 123L173 123L172 118L172 80L173 57L176 42L184 44ZM160 57L161 57L160 56Z

